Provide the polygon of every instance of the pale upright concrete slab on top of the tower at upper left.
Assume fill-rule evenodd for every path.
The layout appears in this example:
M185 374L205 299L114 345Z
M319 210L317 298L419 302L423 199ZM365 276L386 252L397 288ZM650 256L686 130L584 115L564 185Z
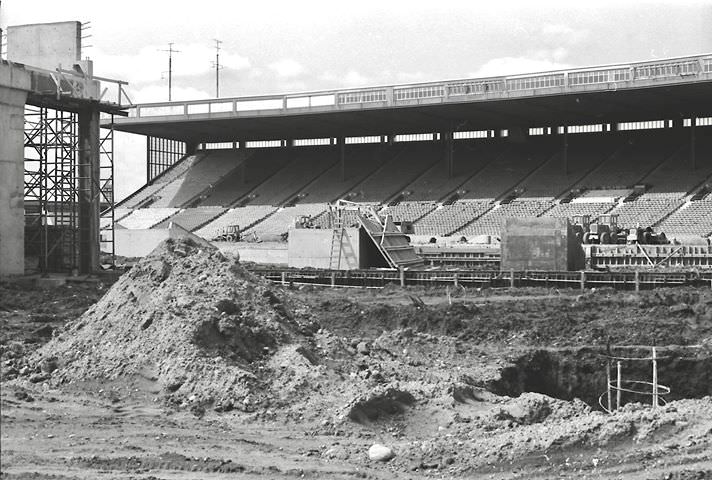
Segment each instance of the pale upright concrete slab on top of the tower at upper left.
M69 70L81 60L81 24L57 22L7 28L7 58L11 62L54 70Z

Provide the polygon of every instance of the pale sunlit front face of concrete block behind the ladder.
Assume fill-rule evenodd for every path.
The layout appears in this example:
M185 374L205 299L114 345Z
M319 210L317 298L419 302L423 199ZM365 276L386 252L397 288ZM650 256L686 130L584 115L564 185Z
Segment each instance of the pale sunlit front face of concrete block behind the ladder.
M358 228L344 230L341 248L341 270L362 268L361 238ZM294 228L289 231L289 266L295 268L330 268L331 238L329 229Z

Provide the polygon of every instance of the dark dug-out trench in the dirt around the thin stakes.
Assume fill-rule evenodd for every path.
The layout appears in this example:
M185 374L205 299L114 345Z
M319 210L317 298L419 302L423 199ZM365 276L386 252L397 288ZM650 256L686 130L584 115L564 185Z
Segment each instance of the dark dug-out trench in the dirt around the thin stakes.
M666 401L701 398L712 395L712 352L694 347L658 347L658 382L670 387ZM594 409L600 409L599 395L606 391L607 359L604 350L578 348L569 350L534 350L515 358L502 369L500 377L487 385L498 395L517 397L524 392L543 393L561 400L579 398ZM650 348L614 349L625 357L649 357ZM652 380L650 361L621 361L624 380ZM612 363L615 381L616 366ZM643 387L645 388L645 387ZM650 389L648 386L647 389ZM615 392L613 393L615 399ZM604 404L606 397L604 396ZM623 393L621 404L650 404L649 395ZM615 400L614 400L615 401Z

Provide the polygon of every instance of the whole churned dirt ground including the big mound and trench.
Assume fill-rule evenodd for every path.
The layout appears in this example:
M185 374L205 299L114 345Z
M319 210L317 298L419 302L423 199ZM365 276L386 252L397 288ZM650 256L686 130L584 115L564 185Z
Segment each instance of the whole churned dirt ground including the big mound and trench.
M712 478L712 292L448 293L190 242L113 287L0 284L1 478ZM665 405L602 411L608 344L657 346Z

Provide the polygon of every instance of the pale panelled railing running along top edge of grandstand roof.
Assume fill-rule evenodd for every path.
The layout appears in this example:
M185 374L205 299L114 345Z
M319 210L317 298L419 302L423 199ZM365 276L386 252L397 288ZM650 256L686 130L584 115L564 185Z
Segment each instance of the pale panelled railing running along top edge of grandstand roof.
M710 79L712 54L622 65L558 70L528 75L461 79L411 85L328 90L286 95L217 98L135 105L132 118L190 115L239 115L250 112L332 111L419 103L534 96L591 90L618 90L691 79Z

